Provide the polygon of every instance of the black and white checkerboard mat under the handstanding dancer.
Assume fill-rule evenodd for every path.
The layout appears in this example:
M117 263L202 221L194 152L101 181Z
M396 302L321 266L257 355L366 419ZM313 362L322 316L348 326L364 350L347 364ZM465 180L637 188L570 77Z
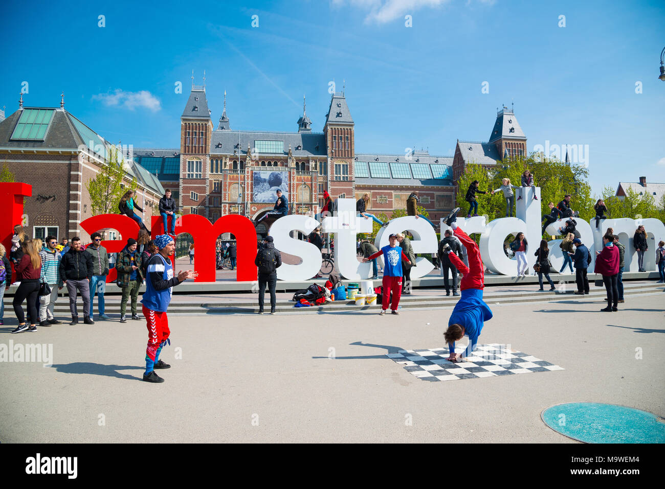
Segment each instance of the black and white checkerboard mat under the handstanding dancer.
M462 353L465 348L458 348L457 353ZM446 360L449 355L448 348L400 349L398 353L386 354L396 363L405 365L406 371L430 382L563 370L559 365L498 343L476 345L473 354L458 363Z

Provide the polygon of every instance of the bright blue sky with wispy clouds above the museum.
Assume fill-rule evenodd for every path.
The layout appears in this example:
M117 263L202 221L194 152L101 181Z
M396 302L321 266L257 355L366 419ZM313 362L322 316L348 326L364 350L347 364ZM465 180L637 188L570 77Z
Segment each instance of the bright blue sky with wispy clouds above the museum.
M358 152L452 155L457 139L487 141L514 102L529 151L589 146L595 193L665 182L662 1L33 2L0 18L7 116L23 82L25 106L58 106L64 90L112 142L178 147L192 70L196 84L205 70L215 127L227 91L233 130L295 131L306 94L321 131L329 84L345 79Z

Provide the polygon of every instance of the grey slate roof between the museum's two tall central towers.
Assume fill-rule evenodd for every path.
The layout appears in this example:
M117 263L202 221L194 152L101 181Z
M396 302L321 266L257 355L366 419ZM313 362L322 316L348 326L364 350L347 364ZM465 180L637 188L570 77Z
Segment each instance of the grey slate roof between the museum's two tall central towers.
M327 156L326 138L321 133L309 132L245 132L245 131L213 131L210 138L211 154L233 154L237 151L240 155L247 154L247 146L254 147L255 140L283 141L283 155L289 153L295 157ZM221 143L221 147L217 147ZM239 147L236 147L237 144ZM301 149L298 149L301 146ZM319 149L317 149L319 146Z

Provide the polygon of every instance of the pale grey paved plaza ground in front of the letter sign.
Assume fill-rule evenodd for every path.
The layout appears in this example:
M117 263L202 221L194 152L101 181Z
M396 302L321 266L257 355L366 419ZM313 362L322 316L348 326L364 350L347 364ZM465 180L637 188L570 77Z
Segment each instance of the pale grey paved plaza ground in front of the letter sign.
M174 316L162 384L141 381L144 320L15 335L5 322L0 343L52 344L53 365L0 363L0 442L575 443L543 409L588 401L665 416L662 297L630 296L615 313L598 298L490 302L480 343L563 370L454 382L386 356L445 348L452 308Z

